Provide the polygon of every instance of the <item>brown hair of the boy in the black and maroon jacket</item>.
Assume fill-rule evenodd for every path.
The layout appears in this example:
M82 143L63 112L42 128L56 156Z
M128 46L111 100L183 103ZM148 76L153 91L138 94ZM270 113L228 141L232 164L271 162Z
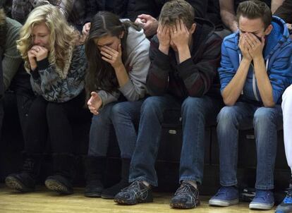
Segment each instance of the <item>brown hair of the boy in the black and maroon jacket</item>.
M185 26L190 29L194 23L195 10L187 1L168 1L162 7L159 23L162 25L175 25L176 20L182 19Z

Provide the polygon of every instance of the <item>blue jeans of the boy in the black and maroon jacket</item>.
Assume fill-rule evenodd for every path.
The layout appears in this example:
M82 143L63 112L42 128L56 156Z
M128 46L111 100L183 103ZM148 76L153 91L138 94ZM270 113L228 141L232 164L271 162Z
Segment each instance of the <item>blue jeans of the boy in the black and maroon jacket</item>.
M202 182L204 167L205 126L216 123L221 109L221 100L212 97L188 97L183 103L171 97L148 97L141 107L138 139L130 162L129 181L147 181L157 186L157 174L154 169L162 132L165 110L181 109L183 121L183 145L180 162L180 182Z

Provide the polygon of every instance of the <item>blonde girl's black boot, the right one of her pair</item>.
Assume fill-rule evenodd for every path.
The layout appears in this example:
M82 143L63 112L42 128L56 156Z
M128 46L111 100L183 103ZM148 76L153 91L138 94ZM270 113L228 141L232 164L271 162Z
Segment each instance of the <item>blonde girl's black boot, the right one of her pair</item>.
M53 154L54 176L47 177L44 184L49 190L62 195L73 194L73 154Z

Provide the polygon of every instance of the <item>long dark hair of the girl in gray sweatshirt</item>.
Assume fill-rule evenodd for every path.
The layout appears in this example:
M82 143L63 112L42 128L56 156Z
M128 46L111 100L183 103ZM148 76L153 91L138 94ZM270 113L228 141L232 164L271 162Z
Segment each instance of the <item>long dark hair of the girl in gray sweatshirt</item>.
M128 36L128 28L132 26L135 30L140 28L130 21L121 22L118 16L107 11L99 11L91 21L90 32L85 42L85 53L88 61L87 74L85 77L85 90L87 98L90 97L90 92L95 90L104 90L107 92L114 92L118 90L118 80L116 73L111 64L102 60L102 56L97 49L95 40L104 36L121 35L121 48L123 51L122 61L124 63L126 56L126 39Z

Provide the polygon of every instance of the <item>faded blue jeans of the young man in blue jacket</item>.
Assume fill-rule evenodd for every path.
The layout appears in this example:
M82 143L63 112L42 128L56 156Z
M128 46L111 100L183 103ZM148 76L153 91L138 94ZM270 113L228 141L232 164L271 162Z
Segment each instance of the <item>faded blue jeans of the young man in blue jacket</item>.
M282 128L281 106L256 107L237 102L224 107L217 116L217 136L220 153L220 184L237 184L238 130L255 128L257 149L257 180L255 188L274 188L274 164L276 159L277 130Z

